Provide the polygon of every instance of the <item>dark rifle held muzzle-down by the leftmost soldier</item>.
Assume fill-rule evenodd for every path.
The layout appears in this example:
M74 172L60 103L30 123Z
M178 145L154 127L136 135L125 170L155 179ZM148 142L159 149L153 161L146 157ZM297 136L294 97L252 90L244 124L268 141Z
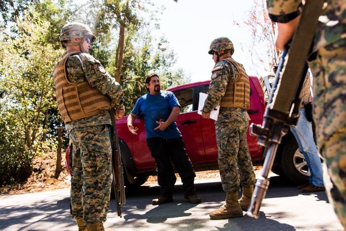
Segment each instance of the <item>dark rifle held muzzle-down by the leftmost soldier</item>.
M120 145L117 132L117 126L115 123L115 110L114 108L110 111L112 119L112 127L109 131L111 137L112 146L112 173L114 182L114 193L117 202L118 216L122 217L121 206L125 205L125 188L124 188L124 167L120 155Z

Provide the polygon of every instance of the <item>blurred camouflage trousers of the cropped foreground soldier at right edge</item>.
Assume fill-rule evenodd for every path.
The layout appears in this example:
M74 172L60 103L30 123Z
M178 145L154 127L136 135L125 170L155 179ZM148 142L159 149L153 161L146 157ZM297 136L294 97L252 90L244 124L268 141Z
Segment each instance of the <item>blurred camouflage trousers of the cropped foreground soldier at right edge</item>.
M319 48L313 74L317 145L325 158L329 201L346 229L346 40Z

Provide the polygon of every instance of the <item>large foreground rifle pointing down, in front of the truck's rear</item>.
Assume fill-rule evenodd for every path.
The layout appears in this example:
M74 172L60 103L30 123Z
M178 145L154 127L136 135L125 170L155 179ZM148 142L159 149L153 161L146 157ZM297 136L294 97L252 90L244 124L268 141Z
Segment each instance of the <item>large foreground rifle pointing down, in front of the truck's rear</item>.
M265 160L261 176L256 182L251 203L246 213L259 218L259 209L268 189L268 174L274 162L276 150L290 126L299 119L299 98L307 72L306 59L311 51L318 17L322 13L324 0L306 0L300 23L283 51L275 82L264 112L262 126L252 124L250 133L259 137L258 144L265 146ZM288 56L288 57L287 57Z

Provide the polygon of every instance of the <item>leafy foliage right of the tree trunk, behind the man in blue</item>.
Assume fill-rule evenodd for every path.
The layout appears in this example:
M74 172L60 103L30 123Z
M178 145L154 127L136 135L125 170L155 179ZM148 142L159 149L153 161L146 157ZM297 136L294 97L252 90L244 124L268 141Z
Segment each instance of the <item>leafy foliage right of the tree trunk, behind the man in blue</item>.
M168 89L190 81L183 70L173 71L175 56L166 39L161 38L157 44L146 27L139 31L127 32L125 38L124 64L120 84L124 90L127 114L132 110L136 100L147 92L145 77L155 72L159 75L162 89ZM115 75L115 51L106 69Z

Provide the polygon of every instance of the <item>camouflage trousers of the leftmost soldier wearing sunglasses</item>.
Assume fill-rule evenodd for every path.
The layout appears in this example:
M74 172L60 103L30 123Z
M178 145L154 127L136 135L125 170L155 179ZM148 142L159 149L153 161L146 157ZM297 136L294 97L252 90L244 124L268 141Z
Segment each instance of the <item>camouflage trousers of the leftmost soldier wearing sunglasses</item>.
M106 221L112 183L111 143L107 125L73 129L72 217L89 225Z

